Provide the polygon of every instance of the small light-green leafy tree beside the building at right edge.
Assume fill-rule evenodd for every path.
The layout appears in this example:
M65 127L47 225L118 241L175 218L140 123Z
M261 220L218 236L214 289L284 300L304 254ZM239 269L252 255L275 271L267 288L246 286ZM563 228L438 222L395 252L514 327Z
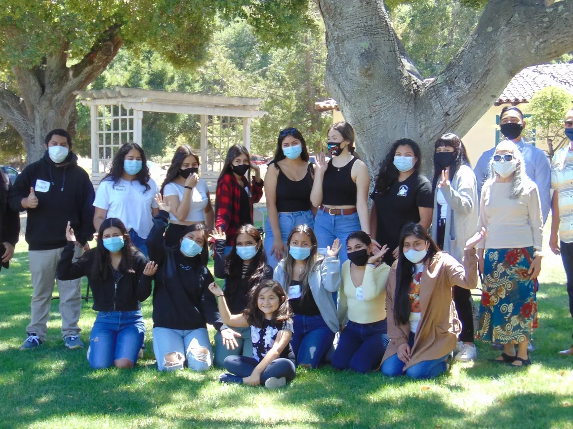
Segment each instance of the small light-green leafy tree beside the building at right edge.
M563 133L563 118L572 107L573 96L555 86L540 89L525 106L524 113L531 114L528 124L537 138L545 138L550 157L569 141Z

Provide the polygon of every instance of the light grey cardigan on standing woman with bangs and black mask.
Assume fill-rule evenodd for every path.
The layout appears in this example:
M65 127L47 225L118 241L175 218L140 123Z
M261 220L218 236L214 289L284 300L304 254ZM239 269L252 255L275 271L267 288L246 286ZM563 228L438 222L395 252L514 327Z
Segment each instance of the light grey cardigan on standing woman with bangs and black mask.
M477 199L476 174L467 165L461 165L450 180L450 185L444 186L442 193L448 202L446 215L446 232L444 234L444 252L448 252L458 262L464 256L464 247L477 232L479 203ZM438 238L438 187L434 192L434 213L431 220L431 237Z

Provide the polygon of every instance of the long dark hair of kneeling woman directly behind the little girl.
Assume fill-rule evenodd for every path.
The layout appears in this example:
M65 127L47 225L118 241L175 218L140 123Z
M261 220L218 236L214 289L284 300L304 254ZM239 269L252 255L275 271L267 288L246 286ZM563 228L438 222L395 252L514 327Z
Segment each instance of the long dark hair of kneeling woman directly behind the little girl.
M228 277L224 293L229 300L232 300L236 293L242 288L245 288L245 291L252 289L254 285L262 281L265 275L266 255L265 249L262 248L261 234L257 228L249 224L243 225L238 229L237 237L241 234L248 234L253 237L259 248L257 254L253 256L253 259L249 263L244 279L244 264L241 257L237 255L237 244L233 246L231 252L227 255L225 259L225 272Z

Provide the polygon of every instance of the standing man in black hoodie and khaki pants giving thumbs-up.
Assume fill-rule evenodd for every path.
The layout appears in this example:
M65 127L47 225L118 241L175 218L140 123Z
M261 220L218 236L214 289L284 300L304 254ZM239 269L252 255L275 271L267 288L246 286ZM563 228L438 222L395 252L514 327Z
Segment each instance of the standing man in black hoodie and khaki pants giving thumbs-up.
M93 191L88 173L77 165L72 138L62 129L46 136L46 153L28 165L10 192L13 210L27 210L26 243L32 274L32 317L26 328L21 350L33 349L46 339L46 323L56 279L56 267L66 241L70 221L76 232L76 258L81 255L93 232ZM62 338L69 349L83 348L80 340L80 281L57 280L62 317Z

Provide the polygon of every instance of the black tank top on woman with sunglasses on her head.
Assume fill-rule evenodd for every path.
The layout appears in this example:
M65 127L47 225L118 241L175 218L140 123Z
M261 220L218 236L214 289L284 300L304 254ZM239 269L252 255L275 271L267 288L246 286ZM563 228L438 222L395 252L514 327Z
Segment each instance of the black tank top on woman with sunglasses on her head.
M276 205L277 212L304 212L311 209L312 164L308 164L307 174L301 180L295 181L286 177L278 164Z

